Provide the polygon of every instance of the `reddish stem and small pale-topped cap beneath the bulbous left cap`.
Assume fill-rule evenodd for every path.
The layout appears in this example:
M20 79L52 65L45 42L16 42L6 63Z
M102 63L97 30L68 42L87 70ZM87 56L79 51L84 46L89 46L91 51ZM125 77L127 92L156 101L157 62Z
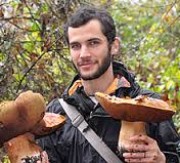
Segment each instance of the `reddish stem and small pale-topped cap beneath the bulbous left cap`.
M24 134L4 143L11 163L41 162L42 149L35 142L35 136L43 136L55 131L65 123L65 117L55 113L45 113L40 123ZM44 163L44 162L43 162Z

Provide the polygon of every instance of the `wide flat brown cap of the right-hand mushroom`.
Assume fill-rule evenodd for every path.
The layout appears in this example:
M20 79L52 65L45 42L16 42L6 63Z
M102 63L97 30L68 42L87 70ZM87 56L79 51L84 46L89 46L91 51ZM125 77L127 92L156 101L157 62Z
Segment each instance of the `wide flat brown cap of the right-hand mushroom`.
M113 118L129 122L161 122L170 119L175 113L167 102L147 96L119 98L96 92L95 97Z

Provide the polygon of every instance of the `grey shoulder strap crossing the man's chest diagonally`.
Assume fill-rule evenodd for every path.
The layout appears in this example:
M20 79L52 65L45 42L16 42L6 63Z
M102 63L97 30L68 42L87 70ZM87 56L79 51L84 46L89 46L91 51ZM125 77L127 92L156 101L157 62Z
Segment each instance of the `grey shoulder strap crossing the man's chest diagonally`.
M94 149L104 158L108 163L123 163L112 150L100 139L100 137L88 126L83 116L77 109L66 103L63 99L59 99L64 111L71 119L72 124L79 129L87 141L94 147Z

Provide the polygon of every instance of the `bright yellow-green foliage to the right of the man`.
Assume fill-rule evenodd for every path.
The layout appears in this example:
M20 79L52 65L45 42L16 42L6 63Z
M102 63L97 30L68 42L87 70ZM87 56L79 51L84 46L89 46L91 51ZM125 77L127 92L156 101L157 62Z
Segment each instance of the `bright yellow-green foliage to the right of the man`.
M118 1L111 8L121 37L118 58L142 87L169 97L180 132L180 22L178 2Z

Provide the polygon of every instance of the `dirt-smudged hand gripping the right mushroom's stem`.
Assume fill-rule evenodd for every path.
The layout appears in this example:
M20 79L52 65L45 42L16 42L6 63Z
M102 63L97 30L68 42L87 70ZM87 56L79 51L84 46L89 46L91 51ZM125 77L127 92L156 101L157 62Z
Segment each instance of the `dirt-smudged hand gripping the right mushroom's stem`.
M146 135L130 138L130 145L124 146L123 157L130 163L165 163L165 155L159 149L156 140Z

